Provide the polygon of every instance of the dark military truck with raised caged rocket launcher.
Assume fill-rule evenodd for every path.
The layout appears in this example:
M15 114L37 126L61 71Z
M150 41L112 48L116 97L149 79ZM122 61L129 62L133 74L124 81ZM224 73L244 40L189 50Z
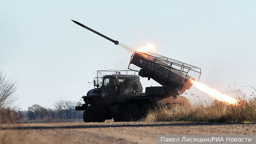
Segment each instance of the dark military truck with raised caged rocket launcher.
M76 107L76 110L84 111L84 122L104 122L112 118L114 121L138 121L145 117L148 109L153 106L190 106L190 101L180 96L192 86L189 80L195 80L187 74L196 72L199 78L201 75L201 69L198 67L151 52L135 51L128 69L97 71L94 89L82 97L85 104ZM112 75L99 77L99 72L112 72ZM143 92L140 77L148 80L152 78L162 86L146 87Z

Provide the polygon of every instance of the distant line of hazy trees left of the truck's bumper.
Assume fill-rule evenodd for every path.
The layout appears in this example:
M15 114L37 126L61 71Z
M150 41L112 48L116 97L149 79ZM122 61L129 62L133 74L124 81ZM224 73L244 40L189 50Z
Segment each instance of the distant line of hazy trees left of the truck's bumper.
M53 105L53 109L42 107L38 104L34 104L28 107L27 111L23 111L23 115L26 114L29 120L43 120L45 118L50 119L79 119L83 118L81 111L76 111L75 107L81 104L73 101L58 101Z

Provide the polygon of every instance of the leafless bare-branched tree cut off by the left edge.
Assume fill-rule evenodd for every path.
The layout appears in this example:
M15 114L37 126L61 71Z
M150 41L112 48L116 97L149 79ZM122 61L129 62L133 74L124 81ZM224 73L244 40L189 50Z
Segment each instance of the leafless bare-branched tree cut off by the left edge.
M0 71L0 107L7 106L17 100L16 90L16 82L6 78L6 75Z

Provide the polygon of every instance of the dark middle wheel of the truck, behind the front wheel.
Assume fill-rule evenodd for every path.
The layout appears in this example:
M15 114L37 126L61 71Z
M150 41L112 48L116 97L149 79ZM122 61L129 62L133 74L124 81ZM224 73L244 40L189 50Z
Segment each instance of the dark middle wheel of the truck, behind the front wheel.
M140 113L140 105L130 104L125 112L126 121L138 121L140 119Z

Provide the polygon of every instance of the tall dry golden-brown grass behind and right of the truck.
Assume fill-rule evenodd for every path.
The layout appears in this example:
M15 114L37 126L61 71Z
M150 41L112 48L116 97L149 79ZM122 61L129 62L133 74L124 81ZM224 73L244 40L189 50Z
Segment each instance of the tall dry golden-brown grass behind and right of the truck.
M151 109L143 121L189 121L189 122L256 122L256 99L241 100L239 106L219 101L209 104L160 106Z

